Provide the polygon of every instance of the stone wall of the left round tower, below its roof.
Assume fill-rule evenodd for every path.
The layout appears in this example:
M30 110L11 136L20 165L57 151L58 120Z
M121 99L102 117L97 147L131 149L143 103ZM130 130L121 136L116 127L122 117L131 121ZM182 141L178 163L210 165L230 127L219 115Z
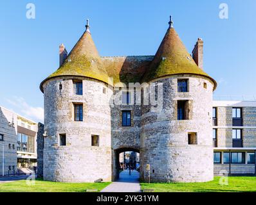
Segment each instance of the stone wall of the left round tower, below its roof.
M44 83L44 179L65 182L111 181L111 108L113 92L105 83L89 78L83 95L73 94L71 78ZM73 78L73 79L74 79ZM60 90L60 83L62 90ZM106 94L103 92L106 89ZM74 121L73 103L83 104L83 121ZM66 146L59 146L59 134L66 134ZM91 145L98 135L99 147Z

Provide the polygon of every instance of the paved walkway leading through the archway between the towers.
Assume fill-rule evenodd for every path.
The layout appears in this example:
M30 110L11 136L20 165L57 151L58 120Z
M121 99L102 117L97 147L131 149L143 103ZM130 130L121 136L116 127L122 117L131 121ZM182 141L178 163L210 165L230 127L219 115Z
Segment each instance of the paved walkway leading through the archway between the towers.
M131 176L129 170L123 170L118 181L109 184L102 192L141 192L139 178L140 173L136 170L131 170Z

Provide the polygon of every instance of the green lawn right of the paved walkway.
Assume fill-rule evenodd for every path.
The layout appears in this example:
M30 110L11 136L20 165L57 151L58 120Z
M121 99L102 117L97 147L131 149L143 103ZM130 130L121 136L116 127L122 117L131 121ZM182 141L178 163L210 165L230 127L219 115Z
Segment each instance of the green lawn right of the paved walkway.
M219 184L220 177L206 183L141 183L154 192L256 192L256 177L228 177L228 185Z

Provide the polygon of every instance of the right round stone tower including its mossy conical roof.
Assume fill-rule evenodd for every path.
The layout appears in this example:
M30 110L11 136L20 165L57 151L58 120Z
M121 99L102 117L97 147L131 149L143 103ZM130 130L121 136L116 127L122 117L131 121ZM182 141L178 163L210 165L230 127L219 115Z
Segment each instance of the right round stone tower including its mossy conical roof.
M149 89L158 90L158 103L142 106L140 174L144 181L150 174L153 182L210 181L212 92L217 83L188 54L172 20L169 24L142 79L155 83Z

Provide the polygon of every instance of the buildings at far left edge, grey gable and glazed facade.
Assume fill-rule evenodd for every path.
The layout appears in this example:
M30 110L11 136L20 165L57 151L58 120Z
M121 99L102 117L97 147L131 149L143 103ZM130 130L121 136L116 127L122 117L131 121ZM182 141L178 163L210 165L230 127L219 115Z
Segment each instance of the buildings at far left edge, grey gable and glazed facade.
M37 124L0 106L0 176L37 167Z

